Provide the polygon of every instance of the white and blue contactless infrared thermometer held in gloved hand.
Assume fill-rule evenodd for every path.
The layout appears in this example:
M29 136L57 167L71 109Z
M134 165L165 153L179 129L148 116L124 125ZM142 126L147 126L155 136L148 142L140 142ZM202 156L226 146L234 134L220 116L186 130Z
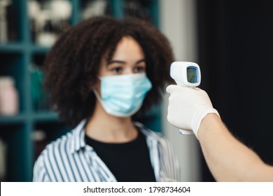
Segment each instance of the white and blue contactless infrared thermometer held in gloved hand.
M195 88L201 83L200 67L195 62L173 62L170 76L177 85ZM192 130L179 130L180 134L194 134Z

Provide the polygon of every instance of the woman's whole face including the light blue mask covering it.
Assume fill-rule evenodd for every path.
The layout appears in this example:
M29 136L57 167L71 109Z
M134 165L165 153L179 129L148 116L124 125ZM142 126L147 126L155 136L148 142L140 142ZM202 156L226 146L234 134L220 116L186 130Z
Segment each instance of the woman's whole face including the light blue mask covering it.
M112 59L109 62L106 58L102 59L100 81L94 87L94 93L104 111L122 118L136 113L152 86L144 73L146 62L141 46L134 38L123 37L118 42Z

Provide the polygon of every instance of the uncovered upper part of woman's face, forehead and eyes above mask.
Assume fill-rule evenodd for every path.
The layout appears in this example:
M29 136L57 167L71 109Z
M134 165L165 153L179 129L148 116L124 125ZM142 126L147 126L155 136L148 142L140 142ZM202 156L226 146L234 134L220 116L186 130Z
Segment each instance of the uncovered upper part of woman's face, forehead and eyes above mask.
M102 59L99 76L115 76L133 73L145 73L146 62L141 46L134 38L123 37L118 43L109 62Z

